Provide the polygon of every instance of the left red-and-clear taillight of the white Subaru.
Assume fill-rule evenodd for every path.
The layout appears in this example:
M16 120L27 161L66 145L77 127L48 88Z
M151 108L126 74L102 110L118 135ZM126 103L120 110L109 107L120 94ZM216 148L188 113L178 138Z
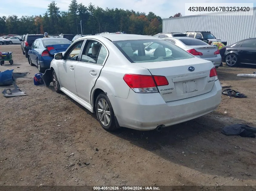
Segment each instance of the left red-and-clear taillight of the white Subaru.
M137 93L158 92L157 86L169 84L165 76L125 74L123 79Z

